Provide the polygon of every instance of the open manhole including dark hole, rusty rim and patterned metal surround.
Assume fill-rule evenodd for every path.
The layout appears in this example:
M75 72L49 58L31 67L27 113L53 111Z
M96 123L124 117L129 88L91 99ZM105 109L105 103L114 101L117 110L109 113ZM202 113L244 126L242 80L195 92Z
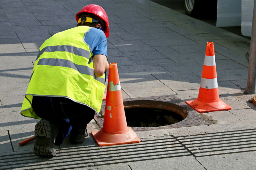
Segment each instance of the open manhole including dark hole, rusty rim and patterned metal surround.
M174 95L123 99L123 102L127 126L135 131L214 124L211 117L196 112ZM105 104L103 101L100 114L94 117L101 128Z

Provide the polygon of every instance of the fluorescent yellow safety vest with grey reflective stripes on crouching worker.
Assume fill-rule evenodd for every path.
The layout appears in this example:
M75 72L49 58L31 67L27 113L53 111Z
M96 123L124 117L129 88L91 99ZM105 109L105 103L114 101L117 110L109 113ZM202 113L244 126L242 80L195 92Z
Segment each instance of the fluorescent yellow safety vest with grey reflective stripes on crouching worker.
M94 75L93 54L84 41L90 29L78 26L44 41L39 48L21 115L40 119L31 107L33 96L66 97L100 111L106 88L105 74L97 78Z

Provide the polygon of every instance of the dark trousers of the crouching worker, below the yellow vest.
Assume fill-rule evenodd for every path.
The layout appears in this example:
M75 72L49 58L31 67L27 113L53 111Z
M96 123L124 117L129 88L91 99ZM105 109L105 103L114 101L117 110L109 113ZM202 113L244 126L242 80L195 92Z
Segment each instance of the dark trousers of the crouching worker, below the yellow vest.
M58 126L55 145L62 144L72 128L86 129L95 114L88 106L64 97L33 96L32 108L37 116Z

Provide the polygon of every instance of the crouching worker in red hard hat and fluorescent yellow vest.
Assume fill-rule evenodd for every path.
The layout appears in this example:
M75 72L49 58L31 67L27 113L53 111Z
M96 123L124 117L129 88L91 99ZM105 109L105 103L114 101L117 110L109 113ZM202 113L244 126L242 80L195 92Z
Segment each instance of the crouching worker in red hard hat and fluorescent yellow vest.
M41 119L34 153L55 156L70 132L83 143L87 124L101 108L106 77L108 16L99 5L76 14L77 27L54 34L39 48L21 115Z

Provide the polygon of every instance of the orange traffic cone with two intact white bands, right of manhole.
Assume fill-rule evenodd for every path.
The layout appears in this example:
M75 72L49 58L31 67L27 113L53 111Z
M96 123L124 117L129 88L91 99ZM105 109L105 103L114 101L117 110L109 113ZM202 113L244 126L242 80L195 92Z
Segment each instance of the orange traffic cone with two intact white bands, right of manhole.
M198 97L186 103L200 113L232 109L219 97L213 42L207 42Z

